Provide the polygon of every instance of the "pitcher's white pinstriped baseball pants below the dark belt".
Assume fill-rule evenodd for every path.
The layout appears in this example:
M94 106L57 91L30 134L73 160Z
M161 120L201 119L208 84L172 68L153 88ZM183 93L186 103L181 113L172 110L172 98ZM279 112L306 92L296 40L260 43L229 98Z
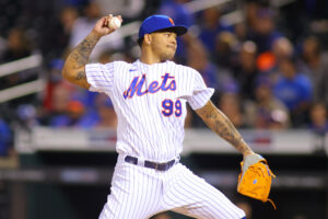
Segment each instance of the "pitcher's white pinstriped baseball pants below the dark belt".
M145 219L165 210L201 219L245 217L219 189L185 165L156 171L127 163L120 154L99 219Z

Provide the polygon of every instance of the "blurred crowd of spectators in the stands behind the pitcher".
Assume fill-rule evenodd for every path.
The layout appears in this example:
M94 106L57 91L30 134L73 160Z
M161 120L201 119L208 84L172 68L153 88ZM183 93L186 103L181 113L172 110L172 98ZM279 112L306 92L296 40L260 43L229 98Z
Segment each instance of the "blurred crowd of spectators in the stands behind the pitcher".
M195 0L200 1L200 0ZM191 0L2 0L0 65L42 54L43 67L0 78L0 91L36 78L43 93L0 103L0 155L13 128L34 126L115 128L110 100L62 80L67 54L108 13L124 23L161 13L189 27L175 61L198 70L214 88L213 103L237 128L328 130L328 2L232 0L192 13ZM283 2L283 1L282 1ZM241 11L242 18L226 19ZM225 19L224 19L225 18ZM134 61L136 36L117 37L93 61ZM36 73L37 71L37 73ZM203 127L188 108L186 127Z

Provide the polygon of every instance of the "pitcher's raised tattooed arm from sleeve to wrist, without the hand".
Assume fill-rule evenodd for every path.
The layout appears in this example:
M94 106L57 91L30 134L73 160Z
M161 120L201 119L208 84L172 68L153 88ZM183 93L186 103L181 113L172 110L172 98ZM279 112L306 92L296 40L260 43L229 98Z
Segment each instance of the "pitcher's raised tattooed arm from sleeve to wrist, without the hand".
M89 89L85 65L89 62L90 54L98 41L99 37L91 33L69 54L62 69L65 79Z

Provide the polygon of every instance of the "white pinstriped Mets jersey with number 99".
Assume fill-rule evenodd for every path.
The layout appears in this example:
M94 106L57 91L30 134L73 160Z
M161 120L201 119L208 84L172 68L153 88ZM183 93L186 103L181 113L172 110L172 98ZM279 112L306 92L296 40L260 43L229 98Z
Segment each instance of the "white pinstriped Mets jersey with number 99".
M197 110L213 94L196 70L173 61L91 64L85 71L90 90L113 101L117 151L157 162L183 150L186 102Z

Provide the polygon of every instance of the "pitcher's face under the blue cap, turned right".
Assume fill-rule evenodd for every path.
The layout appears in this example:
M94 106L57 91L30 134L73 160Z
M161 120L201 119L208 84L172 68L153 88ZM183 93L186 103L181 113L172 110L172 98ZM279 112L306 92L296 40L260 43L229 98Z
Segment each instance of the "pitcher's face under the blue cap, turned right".
M156 32L151 34L151 48L160 61L173 59L176 51L176 33L174 32Z

